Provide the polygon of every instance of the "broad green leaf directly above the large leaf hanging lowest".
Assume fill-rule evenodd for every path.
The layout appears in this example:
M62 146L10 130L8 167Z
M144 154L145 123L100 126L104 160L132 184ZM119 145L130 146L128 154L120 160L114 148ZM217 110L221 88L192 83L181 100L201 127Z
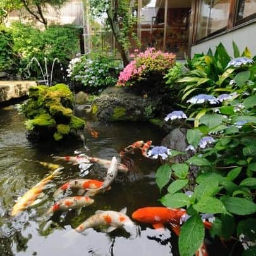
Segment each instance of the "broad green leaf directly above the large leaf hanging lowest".
M209 214L227 212L221 200L214 197L203 197L197 204L193 205L193 208L198 212Z

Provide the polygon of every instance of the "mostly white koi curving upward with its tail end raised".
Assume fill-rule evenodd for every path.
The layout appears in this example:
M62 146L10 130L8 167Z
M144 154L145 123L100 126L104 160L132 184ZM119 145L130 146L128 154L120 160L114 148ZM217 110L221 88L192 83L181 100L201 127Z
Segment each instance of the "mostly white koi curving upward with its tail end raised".
M116 157L112 157L111 164L107 169L107 176L102 186L100 188L88 188L88 192L105 192L107 188L109 188L111 183L113 183L113 181L116 179L116 176L118 176L118 160L116 159Z

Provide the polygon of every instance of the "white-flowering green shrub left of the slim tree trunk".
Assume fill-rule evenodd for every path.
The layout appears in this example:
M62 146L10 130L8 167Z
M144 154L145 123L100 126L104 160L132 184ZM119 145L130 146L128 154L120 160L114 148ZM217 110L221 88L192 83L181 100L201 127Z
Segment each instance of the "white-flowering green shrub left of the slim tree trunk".
M118 81L121 61L114 56L88 54L70 61L68 76L81 82L88 90L99 90L114 86Z

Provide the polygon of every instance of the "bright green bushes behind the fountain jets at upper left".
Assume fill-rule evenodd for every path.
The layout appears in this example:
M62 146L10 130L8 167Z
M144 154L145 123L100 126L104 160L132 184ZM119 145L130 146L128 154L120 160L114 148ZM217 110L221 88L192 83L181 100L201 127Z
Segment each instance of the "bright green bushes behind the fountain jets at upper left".
M13 23L11 25L13 35L13 51L20 56L20 73L29 69L35 76L40 76L40 69L36 63L30 63L35 57L41 66L45 66L44 58L49 65L54 58L68 65L70 59L79 51L78 29L71 25L51 25L47 30L41 31L30 25ZM48 67L49 71L50 66Z

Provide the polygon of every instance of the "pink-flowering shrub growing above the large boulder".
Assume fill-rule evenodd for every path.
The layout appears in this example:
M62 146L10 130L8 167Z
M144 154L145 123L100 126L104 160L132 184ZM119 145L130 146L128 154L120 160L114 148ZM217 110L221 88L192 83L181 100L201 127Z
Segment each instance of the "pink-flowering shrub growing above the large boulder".
M150 76L164 76L175 64L176 55L168 52L155 51L148 48L145 52L135 50L131 54L133 61L121 71L117 86L130 86L138 81L147 80Z

